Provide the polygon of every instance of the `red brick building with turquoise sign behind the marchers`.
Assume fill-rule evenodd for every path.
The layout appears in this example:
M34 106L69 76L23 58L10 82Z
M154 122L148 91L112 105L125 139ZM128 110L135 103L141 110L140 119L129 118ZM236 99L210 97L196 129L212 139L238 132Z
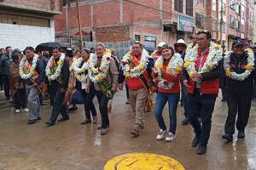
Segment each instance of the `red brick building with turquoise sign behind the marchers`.
M161 41L188 40L194 30L193 0L181 6L174 0L84 0L79 1L79 9L86 41L136 39L154 48ZM77 37L77 16L76 3L67 1L62 14L55 16L56 36Z

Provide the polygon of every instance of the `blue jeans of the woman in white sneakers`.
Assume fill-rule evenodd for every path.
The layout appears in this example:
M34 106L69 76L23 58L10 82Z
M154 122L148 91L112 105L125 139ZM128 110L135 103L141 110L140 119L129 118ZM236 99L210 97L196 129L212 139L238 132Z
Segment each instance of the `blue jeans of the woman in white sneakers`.
M158 125L161 129L166 130L166 123L163 119L163 109L168 101L169 108L169 119L170 119L170 129L169 132L175 134L177 127L177 104L179 101L179 93L178 94L163 94L157 93L155 107L154 107L154 116Z

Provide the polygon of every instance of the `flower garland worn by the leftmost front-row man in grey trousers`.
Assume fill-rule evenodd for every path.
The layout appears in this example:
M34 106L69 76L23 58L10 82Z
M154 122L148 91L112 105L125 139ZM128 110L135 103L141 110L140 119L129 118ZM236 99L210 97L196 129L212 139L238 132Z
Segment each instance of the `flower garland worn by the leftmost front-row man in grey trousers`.
M20 77L25 80L30 78L35 79L37 76L35 69L38 62L38 55L37 54L34 55L32 60L32 66L30 68L26 65L26 61L27 61L26 56L20 60L20 68L19 68Z

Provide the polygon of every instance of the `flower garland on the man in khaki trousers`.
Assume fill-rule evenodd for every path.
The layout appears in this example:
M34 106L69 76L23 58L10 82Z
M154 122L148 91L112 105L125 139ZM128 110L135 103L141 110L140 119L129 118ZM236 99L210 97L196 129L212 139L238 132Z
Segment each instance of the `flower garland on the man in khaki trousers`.
M134 68L130 68L131 63L131 51L125 54L124 58L121 61L122 70L124 71L124 75L126 78L137 78L144 73L147 69L148 65L148 52L146 49L143 49L142 59L140 64L135 66Z

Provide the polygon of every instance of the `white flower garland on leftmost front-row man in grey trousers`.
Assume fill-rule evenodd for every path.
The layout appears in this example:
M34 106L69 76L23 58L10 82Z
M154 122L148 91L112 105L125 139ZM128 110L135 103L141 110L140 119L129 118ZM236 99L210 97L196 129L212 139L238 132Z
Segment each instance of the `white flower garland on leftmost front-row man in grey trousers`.
M32 65L31 65L31 70L29 71L29 73L25 74L24 72L24 68L26 67L25 66L25 63L26 63L26 56L24 56L21 60L20 60L20 68L19 68L19 71L20 71L20 77L22 79L29 79L29 78L32 78L34 76L34 73L35 73L35 69L36 69L36 66L37 66L37 62L38 62L38 55L35 54L34 57L33 57L33 60L32 60Z

